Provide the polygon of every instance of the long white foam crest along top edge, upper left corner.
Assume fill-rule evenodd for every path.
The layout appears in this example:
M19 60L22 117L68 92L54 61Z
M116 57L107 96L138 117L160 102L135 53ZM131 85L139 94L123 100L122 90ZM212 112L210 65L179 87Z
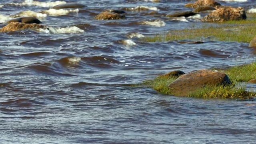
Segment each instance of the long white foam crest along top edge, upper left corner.
M22 3L18 3L16 5L28 5L28 6L41 6L41 7L53 7L59 4L66 4L65 1L56 1L56 2L38 2L34 0L25 0Z

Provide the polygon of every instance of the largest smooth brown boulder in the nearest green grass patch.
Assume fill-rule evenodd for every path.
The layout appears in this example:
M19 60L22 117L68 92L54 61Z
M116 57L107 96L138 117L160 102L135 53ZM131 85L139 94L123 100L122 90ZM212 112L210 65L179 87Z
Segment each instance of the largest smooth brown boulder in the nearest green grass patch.
M197 88L205 85L231 84L228 76L212 70L197 70L180 76L169 87L174 96L189 96Z

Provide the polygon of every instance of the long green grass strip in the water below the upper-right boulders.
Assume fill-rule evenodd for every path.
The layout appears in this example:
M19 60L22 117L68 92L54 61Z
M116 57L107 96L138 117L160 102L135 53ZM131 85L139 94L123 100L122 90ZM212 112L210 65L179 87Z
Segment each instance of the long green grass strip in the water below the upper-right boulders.
M249 43L256 34L256 14L248 14L247 20L224 23L204 23L203 28L172 30L165 34L147 36L143 42L162 42L173 40L210 40ZM192 26L194 27L194 26Z

